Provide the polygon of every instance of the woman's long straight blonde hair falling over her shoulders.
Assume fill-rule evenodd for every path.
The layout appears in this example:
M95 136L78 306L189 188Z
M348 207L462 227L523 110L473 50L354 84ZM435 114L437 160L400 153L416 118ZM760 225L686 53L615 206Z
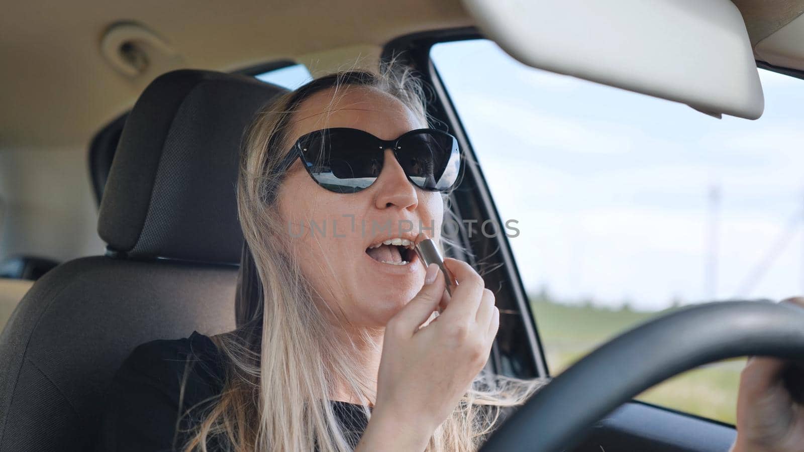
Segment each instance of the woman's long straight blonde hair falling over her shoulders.
M223 391L211 401L202 421L191 428L185 452L206 451L208 444L225 444L225 450L236 452L353 450L356 439L347 439L341 431L330 404L338 382L346 384L366 417L371 417L375 376L366 375L354 359L358 344L331 339L338 336L334 333L338 326L325 315L331 308L316 301L292 253L285 251L283 240L276 240L285 223L276 203L284 174L275 169L292 144L287 133L293 113L315 92L332 88L334 101L347 86L388 93L425 126L429 123L423 85L396 58L381 62L376 73L350 69L318 77L275 98L257 114L246 133L237 183L238 216L245 237L237 327L212 338L226 364ZM451 215L449 194L443 199L445 215ZM360 335L361 347L368 345L379 352L375 335L370 331ZM477 450L497 426L500 409L521 405L541 384L539 379L480 372L453 413L433 432L425 450Z

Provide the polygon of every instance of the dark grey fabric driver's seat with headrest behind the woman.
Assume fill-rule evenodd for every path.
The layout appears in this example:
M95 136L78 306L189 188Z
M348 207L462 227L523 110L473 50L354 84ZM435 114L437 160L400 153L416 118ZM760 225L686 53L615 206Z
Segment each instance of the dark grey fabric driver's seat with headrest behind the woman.
M87 450L134 347L235 327L238 150L256 110L281 92L183 70L142 93L101 203L109 252L47 272L0 335L0 450Z

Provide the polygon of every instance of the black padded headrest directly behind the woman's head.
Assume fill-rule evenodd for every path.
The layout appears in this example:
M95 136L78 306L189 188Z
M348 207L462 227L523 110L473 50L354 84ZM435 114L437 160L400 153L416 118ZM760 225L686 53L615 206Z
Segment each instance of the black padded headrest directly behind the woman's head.
M98 233L127 257L239 263L236 184L244 129L285 88L248 76L159 76L121 134Z

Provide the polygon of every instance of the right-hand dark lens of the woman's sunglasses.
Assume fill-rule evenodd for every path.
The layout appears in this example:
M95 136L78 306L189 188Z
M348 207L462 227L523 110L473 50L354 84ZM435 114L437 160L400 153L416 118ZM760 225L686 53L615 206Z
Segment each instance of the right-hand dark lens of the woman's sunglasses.
M396 155L400 165L419 187L445 191L457 180L461 153L452 135L423 131L404 137L399 146Z

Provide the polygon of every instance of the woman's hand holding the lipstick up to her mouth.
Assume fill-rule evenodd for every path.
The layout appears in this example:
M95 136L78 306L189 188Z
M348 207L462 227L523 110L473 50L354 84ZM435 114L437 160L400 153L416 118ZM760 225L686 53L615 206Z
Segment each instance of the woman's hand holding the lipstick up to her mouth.
M444 264L459 284L452 296L445 294L443 273L431 264L419 294L385 327L372 413L372 420L393 418L398 428L420 435L422 446L470 389L499 326L494 293L482 277L466 262L448 257ZM449 302L441 315L419 329L444 298Z

